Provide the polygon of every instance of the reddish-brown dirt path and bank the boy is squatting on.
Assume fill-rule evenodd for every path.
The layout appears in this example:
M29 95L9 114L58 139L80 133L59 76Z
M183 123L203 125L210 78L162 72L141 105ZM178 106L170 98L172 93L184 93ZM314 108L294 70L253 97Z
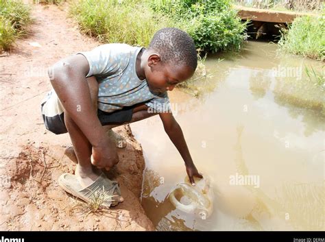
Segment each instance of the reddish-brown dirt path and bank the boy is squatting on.
M40 101L50 90L47 68L60 58L100 45L77 29L67 10L34 5L31 34L0 56L0 230L154 230L141 207L144 159L128 125L117 128L128 145L108 173L125 201L103 213L83 213L58 186L75 164L65 155L68 134L45 130Z

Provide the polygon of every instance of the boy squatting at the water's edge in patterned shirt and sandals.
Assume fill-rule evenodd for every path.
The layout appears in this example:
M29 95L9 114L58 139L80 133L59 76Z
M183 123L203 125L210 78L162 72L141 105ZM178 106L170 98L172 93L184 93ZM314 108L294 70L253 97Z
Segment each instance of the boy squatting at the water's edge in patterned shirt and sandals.
M167 90L188 80L197 66L191 37L180 29L164 28L149 48L125 44L100 45L49 68L53 90L42 103L45 126L55 134L69 132L77 157L75 175L62 174L59 184L88 201L96 191L108 196L106 206L123 202L119 185L100 169L119 162L108 129L159 113L165 131L180 152L193 185L198 173L180 125L169 108ZM148 112L154 110L156 113ZM167 110L167 112L166 112Z

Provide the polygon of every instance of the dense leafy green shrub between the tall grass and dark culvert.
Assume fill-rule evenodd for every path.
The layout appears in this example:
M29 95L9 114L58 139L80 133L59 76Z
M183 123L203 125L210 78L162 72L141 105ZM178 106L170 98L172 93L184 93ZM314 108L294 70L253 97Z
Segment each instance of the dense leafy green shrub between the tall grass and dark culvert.
M182 23L203 53L239 50L247 38L246 24L228 0L156 0L150 6Z

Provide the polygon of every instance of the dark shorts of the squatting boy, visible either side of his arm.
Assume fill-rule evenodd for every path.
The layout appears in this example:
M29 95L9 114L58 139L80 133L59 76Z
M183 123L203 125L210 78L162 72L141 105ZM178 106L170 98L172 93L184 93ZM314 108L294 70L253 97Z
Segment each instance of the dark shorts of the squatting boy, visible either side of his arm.
M104 112L97 110L97 116L101 122L101 125L130 122L132 119L134 107L135 106L124 107L123 109L117 110L115 112ZM43 108L43 105L41 108ZM54 134L64 134L68 132L64 123L64 112L54 117L46 117L43 114L43 121L47 130L53 132Z

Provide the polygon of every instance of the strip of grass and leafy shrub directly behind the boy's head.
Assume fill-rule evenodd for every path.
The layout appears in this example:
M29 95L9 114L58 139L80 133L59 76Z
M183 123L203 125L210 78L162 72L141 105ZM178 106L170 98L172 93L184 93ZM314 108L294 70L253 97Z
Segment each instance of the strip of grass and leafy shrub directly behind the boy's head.
M147 46L162 27L188 32L202 53L239 50L246 38L228 0L78 0L71 14L83 32L105 43Z

